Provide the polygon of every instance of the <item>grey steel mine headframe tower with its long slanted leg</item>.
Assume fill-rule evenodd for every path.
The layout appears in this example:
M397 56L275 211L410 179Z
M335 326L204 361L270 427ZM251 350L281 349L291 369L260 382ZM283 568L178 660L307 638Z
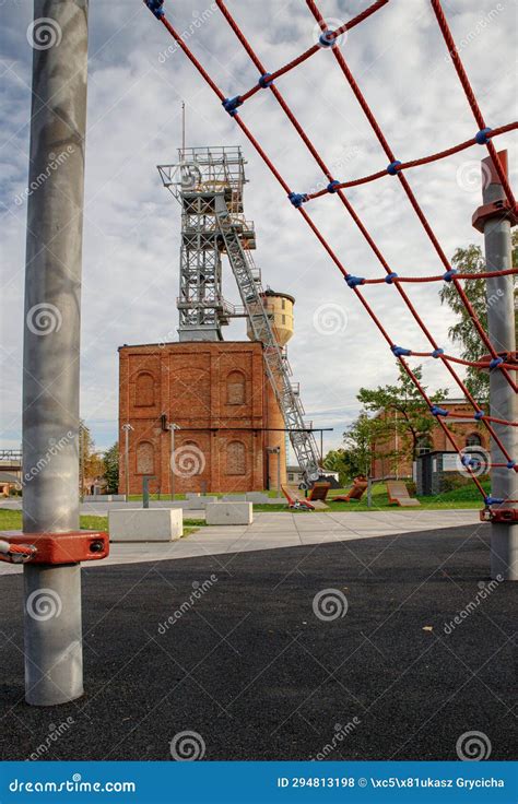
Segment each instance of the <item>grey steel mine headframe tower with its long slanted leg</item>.
M176 165L158 165L181 204L180 341L221 341L231 318L246 318L252 339L264 344L264 365L307 483L318 480L319 454L285 348L280 344L264 299L261 273L250 250L254 224L244 215L245 159L239 147L183 147ZM228 257L242 307L223 299L221 255Z

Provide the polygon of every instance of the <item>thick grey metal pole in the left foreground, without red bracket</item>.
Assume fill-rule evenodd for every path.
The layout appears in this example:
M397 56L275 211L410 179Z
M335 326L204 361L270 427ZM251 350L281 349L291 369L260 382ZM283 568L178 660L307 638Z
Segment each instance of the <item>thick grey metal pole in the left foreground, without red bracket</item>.
M23 355L23 528L79 529L87 0L35 0ZM25 697L83 694L81 569L25 565Z

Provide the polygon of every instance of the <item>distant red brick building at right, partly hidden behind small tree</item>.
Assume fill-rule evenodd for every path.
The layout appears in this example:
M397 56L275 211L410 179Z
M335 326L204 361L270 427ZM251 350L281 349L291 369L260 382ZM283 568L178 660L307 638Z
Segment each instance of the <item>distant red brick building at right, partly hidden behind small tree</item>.
M456 413L462 413L470 415L473 414L472 406L464 400L452 399L439 403L440 407L449 411L449 415L443 421L450 430L452 437L459 449L482 447L484 450L490 449L490 438L487 429L480 422L474 419L469 421L466 418L456 417ZM380 413L379 415L395 418L395 413ZM393 436L384 444L373 445L374 452L378 453L379 457L373 461L373 476L385 477L387 475L397 474L400 477L412 476L412 454L411 447L408 449L405 457L395 459L390 456L391 452L403 450L404 446L401 444L401 436L396 434L396 419ZM405 441L405 445L409 442ZM429 434L424 435L420 439L417 452L423 454L425 452L451 452L454 446L446 437L445 431L439 424L435 423L435 426ZM381 454L380 454L381 453ZM382 456L387 454L387 458Z

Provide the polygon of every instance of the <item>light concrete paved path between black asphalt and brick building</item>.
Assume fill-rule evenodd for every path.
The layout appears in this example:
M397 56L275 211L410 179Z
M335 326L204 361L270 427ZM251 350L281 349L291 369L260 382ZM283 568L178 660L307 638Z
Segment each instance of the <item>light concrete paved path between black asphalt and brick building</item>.
M92 506L93 504L89 504ZM103 504L120 508L120 503ZM128 506L139 507L138 504ZM93 512L92 512L93 513ZM188 517L196 517L189 511ZM200 518L202 512L200 512ZM459 525L476 525L478 510L395 510L290 513L283 511L255 513L250 525L204 527L184 539L165 544L113 544L109 558L90 561L89 567L114 564L162 561L224 553L296 547L299 545L343 542L377 536L398 536ZM21 567L0 564L0 575L20 572Z

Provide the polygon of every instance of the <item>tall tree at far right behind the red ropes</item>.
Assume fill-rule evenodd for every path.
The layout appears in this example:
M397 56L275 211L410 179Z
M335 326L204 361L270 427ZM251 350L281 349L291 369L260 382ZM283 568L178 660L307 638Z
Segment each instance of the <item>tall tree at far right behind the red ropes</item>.
M485 270L485 259L480 246L471 244L467 248L458 248L451 259L451 265L462 273L479 273ZM518 267L518 230L513 232L513 267ZM473 310L481 322L484 332L487 332L487 305L497 304L496 299L487 299L485 280L469 280L463 283ZM470 314L466 309L456 287L450 282L445 283L440 289L440 302L447 304L457 317L456 323L449 328L448 334L461 346L461 357L464 360L479 360L487 354L487 346L482 341L479 332L473 327ZM515 282L516 295L516 282ZM487 402L490 394L490 376L473 366L468 367L466 373L466 385L472 395L483 405Z

